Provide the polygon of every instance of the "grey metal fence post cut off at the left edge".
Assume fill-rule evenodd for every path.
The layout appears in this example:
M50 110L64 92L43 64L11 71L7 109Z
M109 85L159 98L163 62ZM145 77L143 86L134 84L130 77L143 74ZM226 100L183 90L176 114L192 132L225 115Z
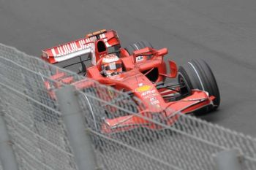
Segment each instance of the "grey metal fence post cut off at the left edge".
M1 105L0 109L2 109ZM0 161L4 170L18 170L18 163L12 150L2 110L0 110Z

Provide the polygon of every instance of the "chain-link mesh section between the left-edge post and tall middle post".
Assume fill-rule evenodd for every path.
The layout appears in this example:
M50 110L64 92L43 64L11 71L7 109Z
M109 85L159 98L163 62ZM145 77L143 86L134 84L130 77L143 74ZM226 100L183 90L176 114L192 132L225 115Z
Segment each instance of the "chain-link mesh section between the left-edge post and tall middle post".
M1 112L19 169L77 169L67 132L45 82L58 69L0 46ZM66 72L67 76L76 74Z

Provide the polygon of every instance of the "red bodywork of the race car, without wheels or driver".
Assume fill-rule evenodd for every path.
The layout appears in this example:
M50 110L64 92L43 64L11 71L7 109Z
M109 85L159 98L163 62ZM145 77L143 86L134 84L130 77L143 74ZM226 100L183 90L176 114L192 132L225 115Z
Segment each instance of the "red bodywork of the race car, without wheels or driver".
M105 45L105 50L98 43ZM110 47L119 46L119 57L124 66L124 72L113 77L104 77L100 73L100 61L102 54L108 53ZM213 105L214 96L208 96L208 93L202 90L194 89L189 96L176 101L166 101L166 96L175 95L176 90L167 88L157 88L157 82L164 82L165 78L176 78L177 66L173 61L168 61L167 64L163 60L167 54L167 49L155 50L151 47L146 47L140 50L135 50L132 55L129 55L127 50L121 47L116 31L97 31L93 34L88 34L85 39L78 39L74 42L69 42L65 45L59 45L42 51L42 58L49 63L58 63L69 60L75 56L90 53L95 57L95 62L92 61L92 66L87 68L87 77L97 80L104 85L109 85L117 90L132 93L146 106L146 109L140 110L139 115L146 116L151 119L158 114L160 121L164 121L167 125L172 125L178 119L178 112L187 114L201 109L208 105ZM170 73L167 73L167 66L170 68ZM148 74L152 70L157 70L158 74L154 75L153 80L148 78ZM61 78L62 77L62 78ZM53 80L73 84L78 89L87 88L90 85L89 81L74 82L72 77L64 77L64 73L53 75ZM58 83L57 83L58 84ZM50 90L49 82L45 82L50 96L55 98L53 90ZM55 88L58 88L55 85ZM149 114L148 114L149 113ZM118 131L128 131L132 128L147 127L157 129L159 126L155 123L144 119L138 115L126 115L113 119L105 119L102 123L102 132L113 133Z

